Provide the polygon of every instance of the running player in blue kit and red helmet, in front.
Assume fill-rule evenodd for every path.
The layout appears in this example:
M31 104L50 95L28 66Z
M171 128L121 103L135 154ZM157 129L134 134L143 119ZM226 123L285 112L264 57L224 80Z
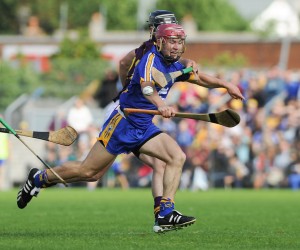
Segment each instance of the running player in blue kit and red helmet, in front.
M83 162L66 162L54 170L67 183L78 181L96 181L103 171L112 164L118 154L138 151L153 156L165 163L163 174L163 197L160 201L158 225L165 228L184 227L193 224L196 219L185 216L175 210L174 198L180 182L185 154L176 141L160 131L153 122L153 115L131 114L125 116L124 108L158 109L165 118L175 115L173 107L165 103L170 88L170 81L161 88L152 78L152 68L169 73L181 70L184 66L178 62L185 50L185 32L178 24L162 24L155 34L157 46L152 47L136 66L127 89L120 95L118 106L105 121L94 144ZM205 78L205 80L203 80ZM188 81L206 88L225 88L235 99L243 100L239 89L228 82L192 72L178 77L177 81ZM145 92L145 88L153 92ZM31 169L24 187L18 194L17 204L24 208L40 188L59 183L60 180L49 170Z

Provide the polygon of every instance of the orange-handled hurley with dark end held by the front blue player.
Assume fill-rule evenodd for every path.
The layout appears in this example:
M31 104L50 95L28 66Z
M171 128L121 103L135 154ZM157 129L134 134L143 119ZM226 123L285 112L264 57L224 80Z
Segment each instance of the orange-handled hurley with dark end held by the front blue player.
M125 115L129 115L130 113L143 113L143 114L152 114L152 115L161 115L158 110L147 110L147 109L133 109L133 108L125 108ZM198 121L211 122L215 124L219 124L225 127L232 128L240 123L240 116L238 113L231 109L226 109L217 113L207 113L207 114L195 114L195 113L175 113L175 117L179 118L189 118Z

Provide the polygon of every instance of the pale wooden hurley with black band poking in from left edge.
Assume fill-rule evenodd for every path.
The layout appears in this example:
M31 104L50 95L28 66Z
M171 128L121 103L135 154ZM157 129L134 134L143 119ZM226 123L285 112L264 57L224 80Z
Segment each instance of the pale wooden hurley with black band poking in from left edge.
M37 132L37 131L26 131L26 130L14 130L16 134L44 141L53 142L56 144L70 146L77 139L77 132L71 126L61 128L56 131L49 132ZM0 128L0 133L11 133L7 128Z

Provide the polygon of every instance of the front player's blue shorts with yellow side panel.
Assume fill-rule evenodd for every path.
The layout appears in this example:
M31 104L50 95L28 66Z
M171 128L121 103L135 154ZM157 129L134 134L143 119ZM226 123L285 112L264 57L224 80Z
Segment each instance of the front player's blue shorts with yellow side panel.
M161 130L153 123L146 129L131 125L117 110L105 121L98 140L113 154L138 151L147 141L160 134Z

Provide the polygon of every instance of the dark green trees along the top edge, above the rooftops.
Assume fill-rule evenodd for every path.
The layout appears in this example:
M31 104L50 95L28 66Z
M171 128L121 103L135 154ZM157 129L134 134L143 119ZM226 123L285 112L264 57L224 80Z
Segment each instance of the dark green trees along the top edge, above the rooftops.
M28 15L38 16L48 34L59 29L64 19L68 29L84 30L98 11L106 18L107 30L136 30L137 5L138 0L1 0L0 34L20 32L20 23ZM191 15L200 31L242 31L249 27L226 0L157 0L156 8L174 11L179 21Z

